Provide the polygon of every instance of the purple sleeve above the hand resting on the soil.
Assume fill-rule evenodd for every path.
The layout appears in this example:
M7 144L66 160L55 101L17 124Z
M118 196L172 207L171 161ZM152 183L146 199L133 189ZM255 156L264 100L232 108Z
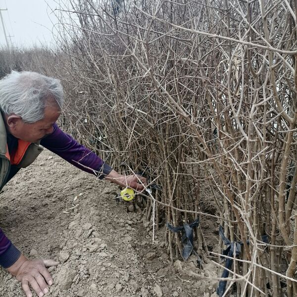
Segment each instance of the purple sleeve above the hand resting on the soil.
M0 229L0 265L10 267L20 257L21 252L11 243Z

